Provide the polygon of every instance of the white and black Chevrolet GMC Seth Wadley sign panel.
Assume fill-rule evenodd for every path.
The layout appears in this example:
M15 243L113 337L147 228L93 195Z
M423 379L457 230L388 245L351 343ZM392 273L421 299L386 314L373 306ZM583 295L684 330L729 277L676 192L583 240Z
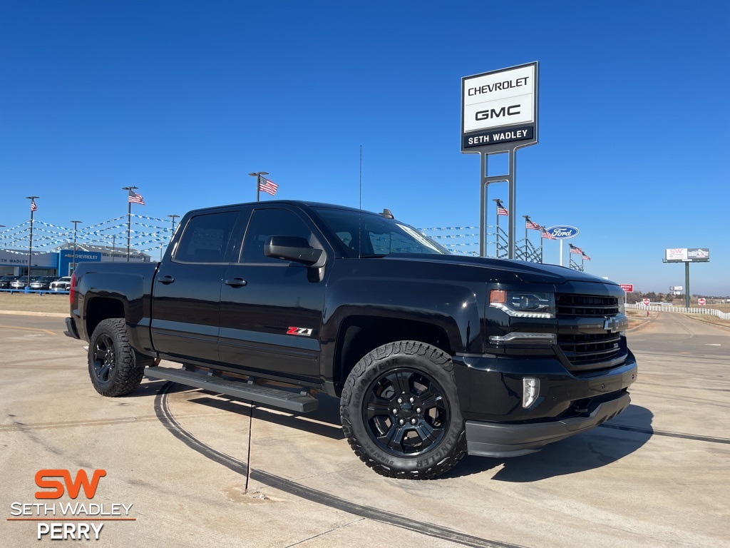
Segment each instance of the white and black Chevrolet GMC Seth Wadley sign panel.
M537 142L537 61L461 78L461 151Z

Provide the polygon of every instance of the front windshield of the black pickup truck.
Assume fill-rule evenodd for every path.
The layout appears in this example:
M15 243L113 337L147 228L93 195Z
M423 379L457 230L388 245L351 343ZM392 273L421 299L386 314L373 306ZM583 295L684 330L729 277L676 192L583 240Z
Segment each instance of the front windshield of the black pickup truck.
M438 254L449 251L417 229L395 219L369 212L315 208L331 232L345 244L352 256L390 254ZM359 227L359 230L358 230ZM362 236L358 237L358 233Z

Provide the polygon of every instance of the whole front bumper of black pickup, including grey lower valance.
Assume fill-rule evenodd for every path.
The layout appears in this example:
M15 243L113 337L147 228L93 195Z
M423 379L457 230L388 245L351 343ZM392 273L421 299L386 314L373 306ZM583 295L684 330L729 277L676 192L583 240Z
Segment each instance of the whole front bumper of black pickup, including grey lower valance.
M456 355L453 373L469 454L515 457L589 430L623 411L637 363L569 371L555 357ZM539 394L522 406L523 378L539 379Z

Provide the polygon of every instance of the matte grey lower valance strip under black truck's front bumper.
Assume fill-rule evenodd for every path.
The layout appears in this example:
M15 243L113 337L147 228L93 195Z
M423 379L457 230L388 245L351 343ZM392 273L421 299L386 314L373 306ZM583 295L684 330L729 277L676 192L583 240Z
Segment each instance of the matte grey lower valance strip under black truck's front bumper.
M533 424L499 424L466 421L466 449L480 457L519 457L534 453L547 444L560 441L612 419L631 403L628 392L589 406L586 416L574 416L553 422Z

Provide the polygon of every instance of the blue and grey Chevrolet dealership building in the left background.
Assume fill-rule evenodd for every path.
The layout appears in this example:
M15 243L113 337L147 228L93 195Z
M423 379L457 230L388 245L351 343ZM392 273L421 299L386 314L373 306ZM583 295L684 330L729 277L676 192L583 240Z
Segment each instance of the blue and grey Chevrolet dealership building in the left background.
M136 249L129 250L129 262L150 262L151 257ZM77 246L64 244L53 251L34 251L31 255L31 276L69 276L74 263L126 262L126 248L106 246ZM0 275L28 275L28 250L0 249Z

